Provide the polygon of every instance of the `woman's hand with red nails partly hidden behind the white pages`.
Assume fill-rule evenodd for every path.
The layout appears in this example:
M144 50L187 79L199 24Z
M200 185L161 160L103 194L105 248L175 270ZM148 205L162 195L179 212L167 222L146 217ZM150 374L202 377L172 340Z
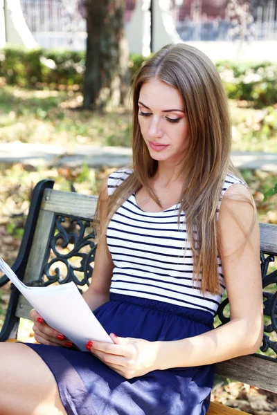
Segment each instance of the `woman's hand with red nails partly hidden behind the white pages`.
M34 322L33 331L37 342L47 346L72 347L72 342L67 340L62 333L48 326L39 313L35 311L35 308L30 311L30 317Z

